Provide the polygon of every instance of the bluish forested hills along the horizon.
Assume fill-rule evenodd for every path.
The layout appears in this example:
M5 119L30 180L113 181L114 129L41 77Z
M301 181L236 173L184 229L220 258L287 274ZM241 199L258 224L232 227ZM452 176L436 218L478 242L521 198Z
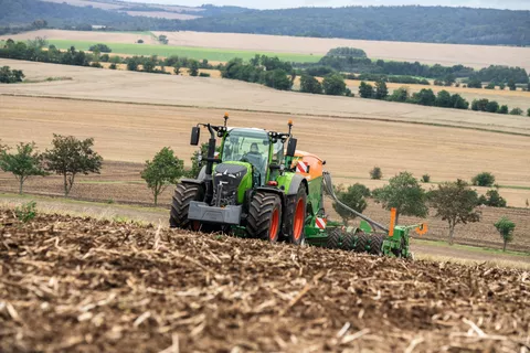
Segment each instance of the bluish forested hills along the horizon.
M530 45L530 11L418 6L259 11L204 6L205 11L201 11L204 18L179 21L130 17L116 11L38 0L0 0L0 34L42 20L46 21L47 26L61 29L86 29L97 24L127 31L187 30L372 41ZM149 11L149 7L142 7L142 10Z

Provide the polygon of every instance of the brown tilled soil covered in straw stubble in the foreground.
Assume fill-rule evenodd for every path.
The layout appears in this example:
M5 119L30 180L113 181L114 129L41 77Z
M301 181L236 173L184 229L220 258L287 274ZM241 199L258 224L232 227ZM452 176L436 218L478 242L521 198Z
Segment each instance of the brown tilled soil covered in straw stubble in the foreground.
M528 272L0 212L2 352L511 351Z

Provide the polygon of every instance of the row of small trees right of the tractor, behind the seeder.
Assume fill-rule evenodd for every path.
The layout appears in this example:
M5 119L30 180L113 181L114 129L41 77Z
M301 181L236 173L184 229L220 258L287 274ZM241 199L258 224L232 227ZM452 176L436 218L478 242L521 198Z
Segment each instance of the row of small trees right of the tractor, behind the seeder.
M436 217L441 217L448 223L449 244L454 243L455 228L458 224L480 221L479 205L484 204L483 196L479 197L477 192L463 180L445 182L426 192L409 172L402 172L391 178L388 185L373 191L356 183L348 189L339 186L336 193L339 201L357 212L362 213L367 208L368 199L373 199L385 210L396 208L396 224L399 215L424 218L432 207L436 212ZM347 224L356 217L353 213L343 210L337 203L333 203L333 208ZM504 249L506 250L507 243L512 240L515 224L502 217L495 226L502 236Z

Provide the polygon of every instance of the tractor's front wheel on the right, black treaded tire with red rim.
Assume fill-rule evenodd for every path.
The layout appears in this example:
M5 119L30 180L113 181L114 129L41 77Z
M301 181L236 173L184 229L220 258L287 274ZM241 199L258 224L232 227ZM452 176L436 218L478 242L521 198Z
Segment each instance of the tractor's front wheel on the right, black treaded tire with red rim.
M275 243L282 229L282 200L278 195L258 191L252 197L246 232L253 238Z

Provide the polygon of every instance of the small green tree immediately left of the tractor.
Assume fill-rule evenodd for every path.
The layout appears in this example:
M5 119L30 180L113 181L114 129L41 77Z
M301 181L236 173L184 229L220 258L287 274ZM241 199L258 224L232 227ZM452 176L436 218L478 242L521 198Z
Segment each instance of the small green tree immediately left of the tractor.
M158 204L158 196L169 184L177 184L184 174L184 162L174 156L173 150L162 148L152 161L146 161L141 171L141 179L147 182L155 197L155 205Z

